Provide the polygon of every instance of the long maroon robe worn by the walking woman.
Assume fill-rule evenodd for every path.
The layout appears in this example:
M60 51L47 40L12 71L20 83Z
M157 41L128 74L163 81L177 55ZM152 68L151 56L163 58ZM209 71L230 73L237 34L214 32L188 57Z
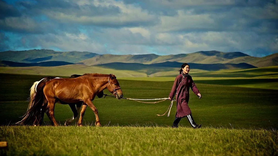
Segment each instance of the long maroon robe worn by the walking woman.
M176 94L176 100L177 100L176 117L185 117L191 114L191 110L188 106L189 87L196 95L200 93L190 75L180 74L176 77L171 93L169 94L169 97L173 99L175 93L177 93Z

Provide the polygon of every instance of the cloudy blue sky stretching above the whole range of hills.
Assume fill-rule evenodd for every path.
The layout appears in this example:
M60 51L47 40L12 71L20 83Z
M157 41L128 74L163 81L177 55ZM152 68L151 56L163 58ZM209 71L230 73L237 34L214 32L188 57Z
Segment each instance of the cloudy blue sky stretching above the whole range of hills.
M278 52L278 0L0 0L0 51Z

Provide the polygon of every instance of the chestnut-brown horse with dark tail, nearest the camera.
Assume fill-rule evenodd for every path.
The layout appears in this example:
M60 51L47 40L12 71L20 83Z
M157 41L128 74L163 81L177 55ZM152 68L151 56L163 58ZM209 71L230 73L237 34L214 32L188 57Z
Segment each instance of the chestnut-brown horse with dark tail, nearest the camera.
M95 108L92 101L97 94L106 88L114 94L116 98L120 99L123 97L120 84L115 75L91 73L72 79L55 78L36 87L37 93L31 101L33 104L29 106L26 114L35 114L36 116L40 113L44 114L44 112L49 109L51 121L53 121L54 126L58 126L54 118L55 103L60 102L61 104L68 104L83 102L78 126L82 126L82 119L87 106L95 113L95 125L101 126L98 110Z

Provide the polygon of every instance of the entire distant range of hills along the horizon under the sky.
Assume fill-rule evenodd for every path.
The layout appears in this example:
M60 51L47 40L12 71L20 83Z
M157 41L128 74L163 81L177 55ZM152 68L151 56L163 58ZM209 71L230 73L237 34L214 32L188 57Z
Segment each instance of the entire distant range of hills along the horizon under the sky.
M278 65L278 53L266 56L266 57L252 57L242 52L219 52L219 51L200 51L189 54L177 54L177 55L156 55L156 54L145 54L145 55L111 55L105 54L100 55L91 52L57 52L54 50L26 50L26 51L5 51L0 52L0 60L12 61L18 63L41 63L48 62L41 65L29 64L36 66L45 66L51 61L67 62L82 64L87 66L92 65L105 65L111 67L109 63L141 63L144 65L152 64L152 66L162 66L167 64L171 67L180 67L182 62L190 63L191 68L194 66L206 70L214 69L227 69L227 68L254 68L254 67L267 67ZM174 62L174 63L169 63ZM176 62L176 63L175 63ZM177 63L178 62L178 63ZM157 64L164 63L164 64ZM195 63L195 64L194 64ZM245 64L241 64L245 63ZM6 66L9 63L6 62ZM13 64L13 63L12 63ZM62 63L63 64L63 63ZM198 65L197 65L198 64ZM203 65L200 65L203 64ZM211 64L211 65L209 65ZM248 65L249 64L249 65ZM23 64L22 64L23 65ZM21 67L27 67L22 66ZM27 64L25 64L27 65ZM113 64L112 64L113 65ZM125 64L123 66L130 66L131 64ZM132 64L132 66L138 64ZM138 65L141 67L141 65ZM147 66L146 66L147 67ZM137 67L139 68L139 67Z

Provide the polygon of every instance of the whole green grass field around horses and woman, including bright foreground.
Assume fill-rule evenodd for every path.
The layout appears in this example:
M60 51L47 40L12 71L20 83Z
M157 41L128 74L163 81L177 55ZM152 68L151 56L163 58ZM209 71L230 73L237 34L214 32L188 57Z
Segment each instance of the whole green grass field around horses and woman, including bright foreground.
M170 128L175 106L170 117L156 116L167 110L169 101L143 104L110 97L93 101L103 127L94 127L95 116L89 108L84 127L4 126L20 120L28 106L28 89L42 77L0 74L0 141L9 143L9 148L1 149L0 155L278 154L277 79L193 77L203 96L198 99L190 91L192 115L197 124L203 124L197 130L186 119L182 119L178 129ZM125 98L168 97L174 80L127 79L119 79ZM61 125L71 116L69 106L56 104L55 117ZM48 121L45 117L44 124L49 125Z

